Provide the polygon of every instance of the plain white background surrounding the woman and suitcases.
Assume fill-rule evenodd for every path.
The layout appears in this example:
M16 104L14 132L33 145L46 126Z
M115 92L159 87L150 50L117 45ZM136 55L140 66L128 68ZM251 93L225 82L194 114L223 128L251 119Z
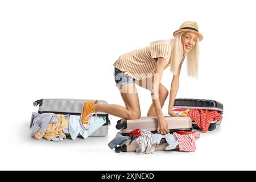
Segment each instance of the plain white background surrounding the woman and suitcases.
M1 1L0 169L255 170L255 16L253 1ZM177 98L224 104L221 127L201 134L196 152L117 154L107 145L117 133L119 118L112 115L105 138L30 138L35 100L84 98L124 106L114 61L172 38L186 20L199 24L204 39L199 79L188 78L184 67ZM168 89L171 78L166 69L162 83ZM146 115L150 93L137 89Z

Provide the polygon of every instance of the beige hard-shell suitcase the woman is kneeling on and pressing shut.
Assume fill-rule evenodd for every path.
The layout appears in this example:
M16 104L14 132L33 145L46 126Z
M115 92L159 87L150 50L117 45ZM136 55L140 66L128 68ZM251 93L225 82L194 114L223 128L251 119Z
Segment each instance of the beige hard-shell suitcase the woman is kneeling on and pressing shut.
M192 130L192 121L189 117L165 117L168 123L168 129L170 133L175 131L184 131L184 130ZM142 129L151 131L151 133L157 132L158 121L157 117L141 117L140 119L120 119L115 126L122 135L126 135L135 129ZM135 140L131 142L131 140L127 140L126 143L121 146L115 148L115 152L135 152L136 148L138 148L138 144ZM155 151L165 151L167 147L167 142L163 138L159 144L156 144ZM176 148L175 150L179 150Z

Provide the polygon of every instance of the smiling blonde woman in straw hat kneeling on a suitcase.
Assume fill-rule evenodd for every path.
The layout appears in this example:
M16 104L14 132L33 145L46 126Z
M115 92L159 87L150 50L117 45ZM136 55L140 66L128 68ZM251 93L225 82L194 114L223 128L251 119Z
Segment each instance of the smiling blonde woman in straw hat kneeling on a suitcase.
M152 105L147 116L158 117L158 132L169 132L164 119L162 107L168 96L168 90L161 84L164 69L171 66L172 78L168 114L178 117L172 110L179 88L181 65L187 56L188 76L197 77L199 59L199 41L203 35L199 33L196 22L184 22L174 32L174 39L160 40L149 46L121 55L114 63L114 78L121 93L125 107L109 104L85 102L82 107L80 125L89 128L90 118L97 111L115 115L119 118L138 119L141 117L139 97L135 84L151 91Z

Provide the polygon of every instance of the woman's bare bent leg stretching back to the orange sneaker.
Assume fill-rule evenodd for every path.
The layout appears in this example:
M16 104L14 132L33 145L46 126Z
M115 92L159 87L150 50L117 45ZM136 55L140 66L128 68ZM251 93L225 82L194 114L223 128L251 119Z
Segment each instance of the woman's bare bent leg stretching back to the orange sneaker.
M96 111L102 111L124 119L138 119L141 117L141 108L139 106L139 97L134 83L125 84L119 87L120 89L132 89L132 93L121 93L125 106L115 104L94 104Z

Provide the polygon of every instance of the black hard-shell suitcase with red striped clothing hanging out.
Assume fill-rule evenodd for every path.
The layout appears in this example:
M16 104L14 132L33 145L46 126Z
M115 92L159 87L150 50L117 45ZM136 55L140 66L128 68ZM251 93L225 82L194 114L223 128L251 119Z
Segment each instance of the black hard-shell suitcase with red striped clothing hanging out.
M223 105L220 102L213 100L176 98L174 108L217 110L220 111L221 115L223 114ZM210 122L208 130L215 130L218 128L218 126L220 126L220 124L221 121L214 120ZM192 126L194 129L199 129L195 121L192 121Z

